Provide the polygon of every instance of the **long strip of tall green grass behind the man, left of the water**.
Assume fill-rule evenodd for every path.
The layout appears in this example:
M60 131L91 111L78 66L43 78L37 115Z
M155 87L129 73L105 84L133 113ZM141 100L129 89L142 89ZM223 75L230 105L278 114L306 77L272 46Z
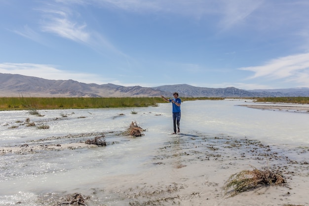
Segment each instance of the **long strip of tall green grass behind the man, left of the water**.
M224 98L181 98L188 100L219 100ZM157 106L165 101L160 97L0 97L0 111L41 109L87 109Z

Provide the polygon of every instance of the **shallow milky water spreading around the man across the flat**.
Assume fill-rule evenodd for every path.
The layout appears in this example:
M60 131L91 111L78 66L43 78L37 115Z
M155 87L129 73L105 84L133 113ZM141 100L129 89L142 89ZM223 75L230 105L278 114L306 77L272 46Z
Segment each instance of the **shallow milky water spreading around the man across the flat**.
M224 136L258 140L269 145L308 148L308 113L251 109L239 106L241 104L256 103L235 99L183 102L179 136L189 142L201 137ZM166 103L159 104L158 107L134 108L138 114L131 114L132 110L133 108L39 111L43 117L29 115L27 111L0 112L0 147L35 144L34 141L42 141L44 138L47 139L45 143L54 144L74 142L77 139L85 141L98 133L104 133L108 143L107 147L57 152L44 150L22 155L8 153L0 156L0 205L20 202L19 205L39 206L42 203L37 203L38 199L41 200L49 193L87 194L94 190L95 197L98 197L104 191L117 190L121 193L119 188L125 185L129 187L141 182L149 184L152 176L155 177L152 182L155 185L158 178L162 182L166 180L165 174L174 175L175 170L168 171L164 167L162 171L163 167L158 166L159 158L158 164L155 164L161 147L180 141L178 135L170 135L173 132L171 105ZM61 113L66 113L68 117L62 118ZM27 118L36 125L49 125L49 129L22 125ZM147 129L145 136L130 138L115 135L115 132L124 131L132 121ZM17 128L11 128L12 126ZM89 135L71 139L52 138L81 133ZM176 158L173 164L180 168L181 163L177 163L177 158L184 148L176 143L172 145L173 158ZM182 175L190 173L185 169L182 172ZM100 199L97 205L123 204L123 200L115 192L105 192L104 196L105 202ZM48 201L45 205L52 205Z

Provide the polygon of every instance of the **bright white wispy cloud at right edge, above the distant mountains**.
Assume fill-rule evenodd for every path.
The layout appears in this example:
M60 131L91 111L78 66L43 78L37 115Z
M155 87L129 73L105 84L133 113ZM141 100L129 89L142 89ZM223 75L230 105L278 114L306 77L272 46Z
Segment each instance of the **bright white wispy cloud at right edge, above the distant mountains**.
M240 70L254 72L249 79L266 77L270 80L296 81L309 86L309 53L280 57L262 66L243 67Z

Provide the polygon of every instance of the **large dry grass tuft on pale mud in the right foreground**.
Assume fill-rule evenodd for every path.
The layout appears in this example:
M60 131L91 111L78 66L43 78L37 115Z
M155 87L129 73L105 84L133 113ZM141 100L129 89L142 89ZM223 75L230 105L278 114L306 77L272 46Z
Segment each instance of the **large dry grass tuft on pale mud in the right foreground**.
M268 167L264 170L253 167L253 170L242 170L232 174L223 186L223 189L225 190L225 195L231 194L231 196L235 196L257 186L279 185L284 183L285 180L281 173L271 171ZM233 189L229 191L231 188Z

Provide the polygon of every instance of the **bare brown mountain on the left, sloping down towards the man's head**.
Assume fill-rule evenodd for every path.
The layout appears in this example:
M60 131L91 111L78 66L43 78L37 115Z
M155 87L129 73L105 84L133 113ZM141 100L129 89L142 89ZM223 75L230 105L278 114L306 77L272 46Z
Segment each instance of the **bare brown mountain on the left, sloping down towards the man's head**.
M127 97L169 95L141 86L112 83L81 83L74 80L45 80L37 77L0 73L0 96L25 97Z

